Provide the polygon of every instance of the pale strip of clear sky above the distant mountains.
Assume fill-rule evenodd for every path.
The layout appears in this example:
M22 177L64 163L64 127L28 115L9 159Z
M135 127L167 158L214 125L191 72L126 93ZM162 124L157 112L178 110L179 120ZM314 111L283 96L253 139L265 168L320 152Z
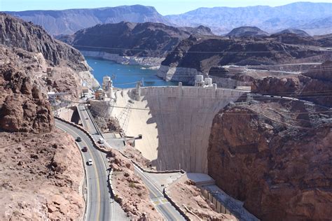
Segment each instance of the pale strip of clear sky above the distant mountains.
M154 6L162 15L185 13L200 7L215 6L281 6L293 0L140 0L140 1L112 1L112 0L0 0L0 10L45 10L68 8L99 8L111 6L123 6L141 4ZM329 2L332 0L312 0L311 2Z

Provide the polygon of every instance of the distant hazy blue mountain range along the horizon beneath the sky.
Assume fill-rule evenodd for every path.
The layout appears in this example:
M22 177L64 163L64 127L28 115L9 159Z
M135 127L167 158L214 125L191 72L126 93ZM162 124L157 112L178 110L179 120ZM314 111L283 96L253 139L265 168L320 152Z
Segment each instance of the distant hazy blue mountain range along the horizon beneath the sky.
M162 16L151 6L117 6L92 9L27 10L6 12L39 24L53 35L74 34L95 24L160 22L178 27L204 25L215 34L226 34L241 26L255 26L269 33L282 29L303 29L308 34L329 34L332 3L297 2L284 6L248 6L239 8L197 8L180 15Z

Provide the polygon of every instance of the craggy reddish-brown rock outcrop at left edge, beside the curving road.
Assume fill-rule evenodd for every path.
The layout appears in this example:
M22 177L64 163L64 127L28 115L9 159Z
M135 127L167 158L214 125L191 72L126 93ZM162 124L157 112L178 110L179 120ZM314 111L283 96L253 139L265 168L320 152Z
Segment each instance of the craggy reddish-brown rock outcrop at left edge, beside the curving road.
M54 124L50 104L34 83L32 71L20 66L8 48L0 46L0 57L5 62L0 67L0 129L50 131Z

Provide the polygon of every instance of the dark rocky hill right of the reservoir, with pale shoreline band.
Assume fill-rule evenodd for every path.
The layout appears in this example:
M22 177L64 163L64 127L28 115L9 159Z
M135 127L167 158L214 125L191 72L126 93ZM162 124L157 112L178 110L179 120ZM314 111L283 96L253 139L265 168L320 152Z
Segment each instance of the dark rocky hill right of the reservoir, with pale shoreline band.
M279 37L227 38L191 36L181 41L162 62L158 76L167 80L188 79L188 73L209 73L212 66L296 63L328 51L313 45L282 43ZM296 42L295 42L296 43ZM330 53L331 54L331 53ZM181 78L186 76L187 78Z

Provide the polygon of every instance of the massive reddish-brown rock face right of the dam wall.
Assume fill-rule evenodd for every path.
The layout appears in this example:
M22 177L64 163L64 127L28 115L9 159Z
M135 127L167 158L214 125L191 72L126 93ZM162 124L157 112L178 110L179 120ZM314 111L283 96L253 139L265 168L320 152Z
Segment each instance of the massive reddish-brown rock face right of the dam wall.
M302 101L254 99L214 117L209 175L261 220L330 219L331 112Z

